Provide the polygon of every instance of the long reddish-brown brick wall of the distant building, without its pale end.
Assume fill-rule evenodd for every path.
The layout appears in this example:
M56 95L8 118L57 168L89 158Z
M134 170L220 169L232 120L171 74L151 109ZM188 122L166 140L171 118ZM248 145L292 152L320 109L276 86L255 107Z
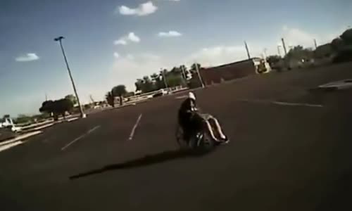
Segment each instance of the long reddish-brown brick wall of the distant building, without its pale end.
M229 65L222 65L213 68L202 69L201 77L203 82L207 85L221 82L221 79L232 80L248 75L256 74L256 68L253 65L252 60L245 60L239 63L232 63Z

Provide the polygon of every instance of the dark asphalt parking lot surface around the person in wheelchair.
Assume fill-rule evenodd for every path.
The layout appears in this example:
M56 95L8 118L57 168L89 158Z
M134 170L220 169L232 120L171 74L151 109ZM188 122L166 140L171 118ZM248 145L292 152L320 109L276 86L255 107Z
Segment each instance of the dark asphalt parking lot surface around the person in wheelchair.
M352 92L314 90L351 68L196 90L231 139L197 157L174 138L182 93L44 129L0 153L1 210L351 210Z

